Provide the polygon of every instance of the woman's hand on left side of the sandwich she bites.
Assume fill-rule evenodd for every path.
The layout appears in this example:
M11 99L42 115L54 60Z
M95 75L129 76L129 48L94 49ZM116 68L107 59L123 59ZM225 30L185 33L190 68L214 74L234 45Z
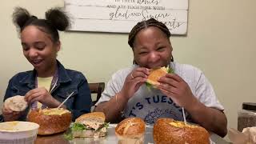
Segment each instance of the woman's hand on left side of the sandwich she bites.
M132 96L134 96L134 93L138 90L138 88L142 86L144 82L146 82L149 74L150 70L145 67L138 67L132 70L126 77L121 94L123 94L123 96L127 99L130 99Z

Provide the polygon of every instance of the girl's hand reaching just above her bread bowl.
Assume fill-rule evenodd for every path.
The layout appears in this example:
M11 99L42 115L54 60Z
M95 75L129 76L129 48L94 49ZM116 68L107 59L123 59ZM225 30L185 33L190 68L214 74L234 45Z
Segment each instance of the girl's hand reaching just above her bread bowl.
M48 107L57 107L60 104L44 87L35 88L27 92L25 100L29 103L38 101Z

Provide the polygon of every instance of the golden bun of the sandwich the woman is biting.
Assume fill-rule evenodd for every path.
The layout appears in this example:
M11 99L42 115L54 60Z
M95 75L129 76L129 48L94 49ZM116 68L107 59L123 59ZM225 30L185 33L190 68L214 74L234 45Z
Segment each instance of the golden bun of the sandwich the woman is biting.
M158 69L151 69L150 75L148 76L146 82L150 83L153 86L158 86L158 79L167 74L166 67L160 67Z

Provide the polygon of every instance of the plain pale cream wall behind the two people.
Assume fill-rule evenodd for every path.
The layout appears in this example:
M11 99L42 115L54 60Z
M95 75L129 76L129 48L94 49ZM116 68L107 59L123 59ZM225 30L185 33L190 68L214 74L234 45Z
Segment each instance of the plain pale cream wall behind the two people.
M8 80L32 66L22 55L18 34L11 22L14 6L26 7L43 17L46 9L63 6L62 0L2 1L0 29L0 105ZM228 124L237 126L242 102L256 102L256 1L190 1L187 36L173 36L174 59L203 70L225 106ZM89 82L107 82L114 71L130 66L133 55L128 34L65 32L58 59L80 70Z

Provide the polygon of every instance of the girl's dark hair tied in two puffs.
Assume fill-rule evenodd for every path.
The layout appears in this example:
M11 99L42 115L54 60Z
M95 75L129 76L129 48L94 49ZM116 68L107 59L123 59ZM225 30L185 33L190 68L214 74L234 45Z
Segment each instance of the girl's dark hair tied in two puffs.
M50 34L52 42L59 41L58 30L64 31L70 26L70 20L61 8L53 8L46 11L46 19L38 19L22 8L16 7L13 13L13 22L20 33L26 26L37 26L46 34Z

